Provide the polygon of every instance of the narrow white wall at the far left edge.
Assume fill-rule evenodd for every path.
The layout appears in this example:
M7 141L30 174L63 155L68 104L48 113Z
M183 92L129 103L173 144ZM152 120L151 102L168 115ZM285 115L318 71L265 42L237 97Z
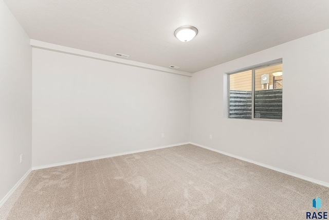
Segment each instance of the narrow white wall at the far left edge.
M31 168L32 49L0 0L0 200ZM20 154L23 162L20 163Z

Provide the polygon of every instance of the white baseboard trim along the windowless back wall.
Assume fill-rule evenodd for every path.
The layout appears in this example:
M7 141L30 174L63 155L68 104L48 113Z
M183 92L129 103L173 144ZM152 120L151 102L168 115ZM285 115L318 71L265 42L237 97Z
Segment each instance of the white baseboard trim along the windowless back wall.
M122 155L127 155L127 154L140 153L140 152L144 152L144 151L153 151L153 150L158 150L158 149L162 149L162 148L171 148L172 146L179 146L179 145L184 145L184 144L189 144L189 143L190 142L176 143L176 144L170 144L170 145L165 145L165 146L157 146L155 148L147 148L147 149L136 150L136 151L129 151L129 152L123 152L123 153L117 153L117 154L109 154L109 155L104 155L104 156L99 156L99 157L90 157L90 158L79 159L79 160L71 160L71 161L60 162L60 163L52 163L52 164L47 164L47 165L43 165L43 166L32 167L32 170L40 170L40 169L46 169L46 168L51 168L51 167L58 167L58 166L72 164L72 163L80 163L80 162L85 162L85 161L90 161L90 160L99 160L99 159L104 159L104 158L108 158L108 157L122 156Z

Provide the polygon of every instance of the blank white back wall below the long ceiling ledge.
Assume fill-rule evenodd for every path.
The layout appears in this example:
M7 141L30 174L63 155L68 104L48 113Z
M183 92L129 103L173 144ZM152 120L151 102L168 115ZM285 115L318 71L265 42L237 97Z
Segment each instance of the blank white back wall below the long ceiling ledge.
M190 77L32 53L33 167L189 141Z

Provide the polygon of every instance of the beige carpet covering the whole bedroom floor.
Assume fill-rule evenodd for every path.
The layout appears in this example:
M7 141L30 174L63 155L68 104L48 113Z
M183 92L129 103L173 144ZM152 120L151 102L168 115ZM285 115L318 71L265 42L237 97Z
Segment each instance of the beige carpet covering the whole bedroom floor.
M1 219L306 219L329 188L191 144L32 171Z

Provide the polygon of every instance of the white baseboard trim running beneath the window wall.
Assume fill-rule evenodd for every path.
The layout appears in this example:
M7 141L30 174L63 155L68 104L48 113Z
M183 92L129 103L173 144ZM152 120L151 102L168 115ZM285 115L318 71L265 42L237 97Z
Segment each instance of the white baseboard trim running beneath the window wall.
M307 176L299 175L297 173L293 173L293 172L289 172L289 171L286 171L286 170L282 170L280 168L272 167L272 166L269 166L269 165L264 164L264 163L260 163L260 162L257 162L257 161L254 161L254 160L250 160L250 159L247 159L247 158L244 158L244 157L236 156L234 154L229 154L229 153L226 153L224 151L220 151L220 150L216 150L216 149L213 149L213 148L209 148L208 146L204 146L204 145L201 145L201 144L197 144L197 143L193 143L193 142L190 142L190 144L193 144L193 145L199 146L200 148L205 148L205 149L208 149L210 151L214 151L214 152L217 152L217 153L220 153L220 154L224 154L224 155L229 156L229 157L234 157L234 158L239 159L239 160L243 160L243 161L246 161L246 162L254 163L254 164L258 165L258 166L261 166L261 167L264 167L264 168L268 168L268 169L271 169L271 170L275 170L275 171L278 171L280 173L284 173L284 174L287 174L287 175L290 175L290 176L294 176L294 177L297 177L297 178L300 178L300 179L303 179L303 180L306 180L306 181L309 181L309 182L313 182L313 183L318 184L318 185L321 185L321 186L329 187L329 183L328 182L324 182L324 181L313 179L313 178L310 178L310 177L307 177Z

